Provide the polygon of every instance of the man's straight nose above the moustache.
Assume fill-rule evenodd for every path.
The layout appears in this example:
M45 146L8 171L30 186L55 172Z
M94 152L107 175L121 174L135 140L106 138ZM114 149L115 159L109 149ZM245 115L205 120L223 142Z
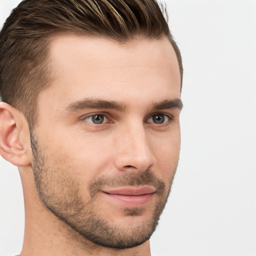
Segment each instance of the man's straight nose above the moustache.
M155 162L143 124L126 126L117 138L115 166L119 170L144 171Z

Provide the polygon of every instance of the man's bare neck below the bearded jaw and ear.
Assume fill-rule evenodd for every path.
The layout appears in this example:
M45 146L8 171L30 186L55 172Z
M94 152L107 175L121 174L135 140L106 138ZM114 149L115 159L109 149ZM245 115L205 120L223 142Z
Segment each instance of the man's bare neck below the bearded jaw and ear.
M24 241L20 256L150 256L149 240L127 249L106 248L88 241L42 205L30 167L20 168L19 171L25 205Z

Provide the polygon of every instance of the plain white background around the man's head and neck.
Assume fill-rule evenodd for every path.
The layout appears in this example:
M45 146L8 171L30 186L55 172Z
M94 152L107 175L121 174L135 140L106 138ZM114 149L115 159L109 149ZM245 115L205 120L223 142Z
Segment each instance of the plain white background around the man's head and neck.
M0 24L19 0L0 0ZM184 80L182 144L152 254L256 256L256 0L167 0ZM23 197L0 158L0 256L19 253Z

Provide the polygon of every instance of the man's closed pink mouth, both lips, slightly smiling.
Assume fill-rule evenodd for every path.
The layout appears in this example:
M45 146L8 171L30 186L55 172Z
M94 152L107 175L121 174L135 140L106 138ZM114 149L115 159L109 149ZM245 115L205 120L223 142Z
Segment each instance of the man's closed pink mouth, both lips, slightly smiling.
M155 188L150 186L120 187L101 191L108 200L115 204L121 204L126 207L139 207L152 200Z

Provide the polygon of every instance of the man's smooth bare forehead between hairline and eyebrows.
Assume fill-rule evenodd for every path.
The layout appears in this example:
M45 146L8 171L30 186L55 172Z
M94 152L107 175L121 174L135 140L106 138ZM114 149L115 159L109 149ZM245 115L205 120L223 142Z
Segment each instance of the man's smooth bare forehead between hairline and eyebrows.
M135 92L144 98L161 93L180 96L178 61L166 37L121 44L59 35L51 40L49 52L54 79L39 100L51 100L53 105L95 96L125 101Z

